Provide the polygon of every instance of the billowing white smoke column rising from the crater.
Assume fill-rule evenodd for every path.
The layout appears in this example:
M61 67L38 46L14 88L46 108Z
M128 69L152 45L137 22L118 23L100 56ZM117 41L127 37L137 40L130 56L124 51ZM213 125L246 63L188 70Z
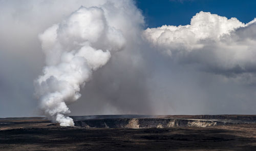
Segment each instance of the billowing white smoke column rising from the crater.
M35 81L39 108L61 126L73 126L67 104L81 95L80 88L92 72L108 62L111 53L124 47L122 33L109 26L98 7L80 7L61 23L39 35L46 67Z

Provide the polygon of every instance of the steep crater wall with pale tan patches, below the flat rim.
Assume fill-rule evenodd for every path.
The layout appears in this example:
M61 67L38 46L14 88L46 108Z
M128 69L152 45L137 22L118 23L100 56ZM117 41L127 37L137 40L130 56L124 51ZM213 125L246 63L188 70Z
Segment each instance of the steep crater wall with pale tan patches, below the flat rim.
M252 121L254 122L254 120ZM241 123L241 120L230 121L223 119L120 118L75 121L76 126L90 126L98 128L167 128L187 126L208 127L217 125L230 125L234 123Z

